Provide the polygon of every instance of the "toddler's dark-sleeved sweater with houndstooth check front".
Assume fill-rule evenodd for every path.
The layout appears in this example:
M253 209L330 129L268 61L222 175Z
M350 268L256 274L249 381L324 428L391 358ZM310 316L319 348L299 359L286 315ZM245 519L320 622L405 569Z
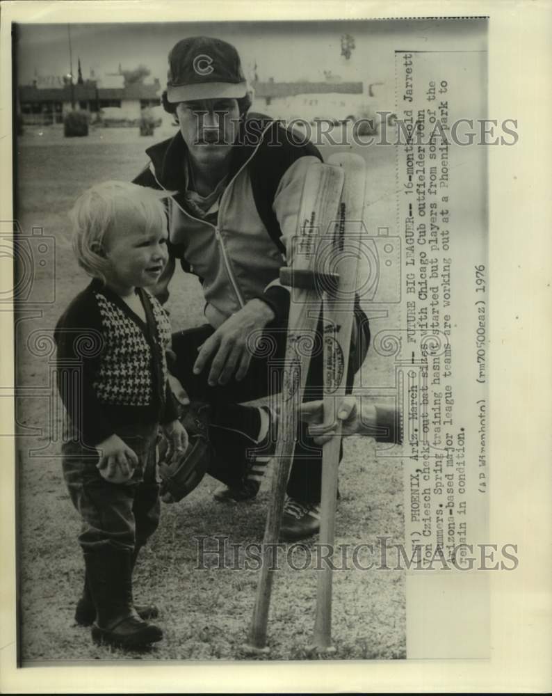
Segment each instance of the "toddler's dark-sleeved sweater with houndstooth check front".
M168 315L146 290L136 292L145 324L120 296L92 280L56 326L58 390L89 445L122 425L177 418L165 358Z

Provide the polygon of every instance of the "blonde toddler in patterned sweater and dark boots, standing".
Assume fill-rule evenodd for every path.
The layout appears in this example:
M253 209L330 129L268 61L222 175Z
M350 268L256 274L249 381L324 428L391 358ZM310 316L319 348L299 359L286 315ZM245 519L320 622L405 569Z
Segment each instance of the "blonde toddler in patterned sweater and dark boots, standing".
M93 624L97 643L144 647L163 637L145 620L156 608L133 604L131 581L159 523L159 425L169 456L188 444L168 385L170 323L147 290L168 259L165 209L151 189L105 182L83 193L71 218L76 258L93 278L55 332L69 425L63 475L82 517L86 567L75 619Z

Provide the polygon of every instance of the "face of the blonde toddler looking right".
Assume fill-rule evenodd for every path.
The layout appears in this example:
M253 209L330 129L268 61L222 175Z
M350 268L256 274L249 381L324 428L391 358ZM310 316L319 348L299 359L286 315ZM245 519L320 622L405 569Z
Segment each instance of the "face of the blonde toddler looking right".
M117 221L104 239L104 251L111 268L106 273L109 285L119 292L155 285L168 260L167 228L146 232L143 221Z

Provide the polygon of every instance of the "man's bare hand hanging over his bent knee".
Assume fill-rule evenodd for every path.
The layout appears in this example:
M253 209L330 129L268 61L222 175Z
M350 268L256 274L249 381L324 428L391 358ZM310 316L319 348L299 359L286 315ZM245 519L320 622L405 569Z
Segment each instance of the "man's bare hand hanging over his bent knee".
M200 374L209 358L214 356L209 372L209 386L226 384L232 375L241 381L249 370L252 355L247 349L247 338L253 331L264 329L274 319L274 312L261 299L252 299L232 315L200 347L193 366Z

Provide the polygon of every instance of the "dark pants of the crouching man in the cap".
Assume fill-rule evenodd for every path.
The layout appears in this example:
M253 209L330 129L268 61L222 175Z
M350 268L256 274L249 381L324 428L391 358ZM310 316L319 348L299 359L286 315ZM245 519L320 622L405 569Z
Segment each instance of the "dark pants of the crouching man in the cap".
M214 333L209 324L199 326L196 329L179 331L172 335L172 350L176 355L176 365L172 368L175 377L192 400L200 400L213 405L213 418L216 426L232 428L210 429L211 441L218 456L213 461L209 473L223 482L236 484L245 473L245 457L237 457L234 454L239 451L234 446L236 415L243 413L247 418L247 409L239 409L236 404L252 401L268 395L279 393L282 383L284 368L284 356L286 351L286 328L276 324L268 324L263 331L259 346L252 356L249 370L242 381L237 382L234 377L225 385L209 386L210 363L204 367L200 374L193 374L193 365L197 358L197 349ZM317 333L318 350L314 350L307 375L307 388L304 401L318 400L323 397L323 353L321 340L321 323L318 324ZM352 390L352 382L359 367L364 362L368 345L370 343L370 329L368 319L362 309L355 306L355 322L353 324L349 369L347 374L347 393ZM216 432L218 430L218 432ZM244 425L243 432L247 432ZM213 434L215 437L213 437ZM251 441L247 443L243 439L243 448L252 447ZM226 461L224 461L226 455ZM232 460L232 461L230 461ZM222 461L222 465L221 465ZM300 424L298 441L295 445L295 454L289 477L287 493L292 498L302 500L305 503L320 502L320 486L322 477L322 449L314 444L307 433L305 423Z

